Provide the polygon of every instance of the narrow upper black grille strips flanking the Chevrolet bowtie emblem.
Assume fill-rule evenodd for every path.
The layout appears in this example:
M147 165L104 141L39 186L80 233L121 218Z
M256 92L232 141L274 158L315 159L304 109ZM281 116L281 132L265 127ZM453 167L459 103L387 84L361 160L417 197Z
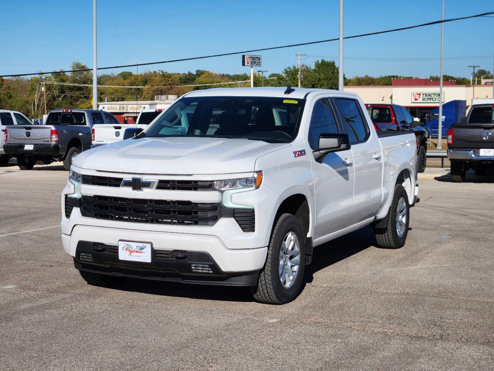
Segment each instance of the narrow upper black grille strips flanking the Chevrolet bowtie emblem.
M100 177L95 175L82 175L82 184L120 187L124 178ZM161 180L156 189L167 190L212 190L212 181L169 181Z

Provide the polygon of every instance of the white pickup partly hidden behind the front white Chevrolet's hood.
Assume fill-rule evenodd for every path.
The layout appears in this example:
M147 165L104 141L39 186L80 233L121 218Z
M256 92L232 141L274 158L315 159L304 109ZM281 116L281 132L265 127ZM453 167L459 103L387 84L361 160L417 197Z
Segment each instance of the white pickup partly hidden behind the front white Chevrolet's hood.
M134 137L147 128L163 111L162 108L143 109L137 116L135 124L121 124L113 115L103 112L107 123L93 126L91 147Z

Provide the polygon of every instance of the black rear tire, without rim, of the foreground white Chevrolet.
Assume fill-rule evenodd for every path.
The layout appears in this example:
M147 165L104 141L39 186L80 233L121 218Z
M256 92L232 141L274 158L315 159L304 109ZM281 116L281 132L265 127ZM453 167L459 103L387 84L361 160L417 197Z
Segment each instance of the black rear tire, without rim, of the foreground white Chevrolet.
M401 204L400 200L404 199L406 207L406 221L403 235L399 235L397 231L397 207ZM395 185L395 192L393 194L393 201L388 211L388 225L386 228L374 228L375 240L377 246L385 249L399 249L403 247L407 240L408 226L410 223L410 204L408 200L407 191L403 185Z

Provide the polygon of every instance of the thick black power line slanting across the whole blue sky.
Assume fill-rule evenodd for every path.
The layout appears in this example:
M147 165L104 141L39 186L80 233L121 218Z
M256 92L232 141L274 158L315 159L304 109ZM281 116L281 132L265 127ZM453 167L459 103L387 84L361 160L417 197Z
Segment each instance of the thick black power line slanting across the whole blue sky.
M485 12L485 13L476 14L476 15L469 15L469 16L465 16L465 17L457 17L457 18L450 18L450 19L445 19L445 20L439 20L439 21L421 23L421 24L414 25L414 26L394 28L394 29L391 29L391 30L376 31L376 32L369 32L369 33L365 33L365 34L359 34L359 35L353 35L353 36L346 36L346 37L344 37L344 39L355 39L355 38L364 37L364 36L380 35L380 34L386 34L386 33L390 33L390 32L396 32L396 31L411 30L413 28L424 27L424 26L431 26L431 25L435 25L435 24L441 24L441 23L447 23L447 22L453 22L453 21L459 21L459 20L463 20L463 19L483 17L483 16L490 15L490 14L494 14L494 11ZM206 58L221 57L221 56L227 56L227 55L236 55L236 54L251 53L251 52L254 52L254 51L274 50L274 49L282 49L282 48L293 47L293 46L304 46L304 45L313 45L313 44L328 43L328 42L336 41L336 40L339 40L339 39L338 38L334 38L334 39L327 39L327 40L311 41L311 42L307 42L307 43L298 43L298 44L290 44L290 45L283 45L283 46L271 46L271 47L264 47L264 48L259 48L259 49L234 51L234 52L229 52L229 53L203 55L203 56L200 56L200 57L170 59L170 60L163 60L163 61L159 61L159 62L124 64L124 65L120 65L120 66L111 66L111 67L98 67L98 70L109 70L109 69L114 69L114 68L127 68L127 67L136 67L136 66L150 66L150 65L154 65L154 64L165 64L165 63L172 63L172 62L183 62L183 61L188 61L188 60L197 60L197 59L206 59ZM2 75L2 76L3 77L35 76L35 75L49 75L49 74L59 74L59 73L67 73L67 72L69 72L69 73L72 73L72 72L87 72L87 71L91 71L91 70L92 70L92 68L84 68L84 69L77 69L77 70L38 72L38 73L25 73L25 74Z

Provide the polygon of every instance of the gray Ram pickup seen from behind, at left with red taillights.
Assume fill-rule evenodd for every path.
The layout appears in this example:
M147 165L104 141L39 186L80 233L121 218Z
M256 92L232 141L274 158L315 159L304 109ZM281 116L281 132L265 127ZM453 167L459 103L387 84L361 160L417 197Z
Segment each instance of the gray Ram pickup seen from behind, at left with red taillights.
M101 111L55 109L48 113L45 125L8 125L3 150L15 156L23 170L31 170L37 161L63 161L70 170L74 157L91 148L92 126L104 123Z

